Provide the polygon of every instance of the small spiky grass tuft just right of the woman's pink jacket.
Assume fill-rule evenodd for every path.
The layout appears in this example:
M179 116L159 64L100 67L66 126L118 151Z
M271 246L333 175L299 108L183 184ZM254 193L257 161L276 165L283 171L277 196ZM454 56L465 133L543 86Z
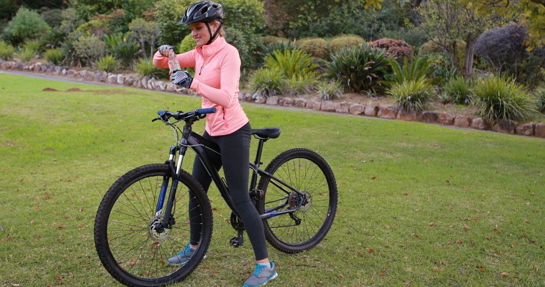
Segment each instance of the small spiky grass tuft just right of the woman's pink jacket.
M286 89L287 81L281 71L259 68L250 78L250 90L263 97L275 96Z

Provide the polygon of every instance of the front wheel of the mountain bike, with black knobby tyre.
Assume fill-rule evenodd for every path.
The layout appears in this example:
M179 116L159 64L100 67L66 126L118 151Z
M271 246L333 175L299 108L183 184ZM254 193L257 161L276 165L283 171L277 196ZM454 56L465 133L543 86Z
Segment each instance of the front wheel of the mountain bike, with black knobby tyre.
M197 180L183 170L172 208L176 223L161 233L153 229L163 219L162 213L156 214L156 207L162 182L168 183L170 178L171 169L166 164L137 167L120 177L99 205L94 230L96 251L102 265L120 283L161 286L178 282L197 267L208 249L212 234L210 202ZM195 209L202 215L202 223L191 227L200 229L199 247L187 263L169 265L167 260L190 240L190 198L196 199Z

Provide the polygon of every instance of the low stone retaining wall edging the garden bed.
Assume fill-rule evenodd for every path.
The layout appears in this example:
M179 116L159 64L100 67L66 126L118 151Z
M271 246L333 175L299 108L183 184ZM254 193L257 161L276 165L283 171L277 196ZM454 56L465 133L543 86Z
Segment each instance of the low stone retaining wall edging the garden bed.
M134 88L175 92L174 86L160 80L147 77L125 76L124 74L113 74L101 71L76 71L68 67L55 66L52 64L41 63L23 63L20 61L3 61L0 59L0 70L19 70L28 72L46 73L75 79L104 82L108 84L117 84L131 86ZM186 95L196 96L196 94L185 89L181 91ZM537 136L545 138L545 123L517 123L511 120L500 120L493 126L477 116L451 115L436 111L424 111L422 113L407 113L398 110L396 105L378 105L378 104L356 104L349 102L319 102L312 99L288 98L282 96L262 97L258 93L239 92L240 101L253 102L258 104L282 105L284 107L305 108L316 111L326 111L331 113L343 113L352 115L362 115L371 117L380 117L387 119L397 119L403 121L420 121L425 123L435 123L444 126L455 126L461 128L473 128L480 130L492 130L494 132L506 134L519 134L526 136Z

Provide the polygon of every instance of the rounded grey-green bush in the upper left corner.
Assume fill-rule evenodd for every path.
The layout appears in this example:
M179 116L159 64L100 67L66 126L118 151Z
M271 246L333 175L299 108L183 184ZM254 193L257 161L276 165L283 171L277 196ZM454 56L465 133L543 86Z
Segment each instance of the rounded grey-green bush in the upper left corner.
M40 14L27 8L20 8L5 28L3 37L17 45L25 39L37 39L50 29Z

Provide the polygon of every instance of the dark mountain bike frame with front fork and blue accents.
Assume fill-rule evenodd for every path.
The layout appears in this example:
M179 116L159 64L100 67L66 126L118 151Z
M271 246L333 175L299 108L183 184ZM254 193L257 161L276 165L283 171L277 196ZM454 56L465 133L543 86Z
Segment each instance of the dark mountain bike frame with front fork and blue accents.
M195 153L197 155L199 155L199 157L201 158L202 163L203 163L205 169L207 170L209 176L212 178L214 184L217 186L217 189L220 191L221 197L225 200L225 202L227 203L229 208L231 208L233 213L238 216L238 213L234 208L234 204L233 204L233 201L231 199L231 195L229 194L229 189L228 189L227 185L225 184L225 182L223 182L220 174L216 171L214 165L211 163L211 160L208 158L208 155L205 153L205 148L208 148L211 151L216 152L216 153L220 153L220 151L217 149L217 147L214 144L212 144L211 142L209 142L208 140L203 138L203 136L201 136L199 134L196 134L196 133L193 133L192 130L191 130L192 124L193 124L193 121L187 121L186 122L186 124L184 125L184 131L183 131L183 134L182 134L182 139L181 139L179 145L178 146L172 146L170 148L169 158L166 161L166 163L171 166L171 170L172 170L172 174L173 174L173 176L172 176L173 180L172 180L171 190L170 190L169 195L168 195L168 201L167 201L166 209L165 209L165 212L164 212L165 216L164 216L163 222L162 222L162 227L164 227L164 228L170 228L172 226L172 224L174 224L173 220L171 219L171 217L172 217L171 216L171 211L172 211L172 207L173 207L173 204L174 204L174 201L175 201L176 190L177 190L177 186L178 186L178 178L179 178L179 174L180 174L181 165L182 165L183 159L185 157L185 152L187 151L187 147L190 147L191 149L193 149L193 151L195 151ZM256 190L256 185L257 185L257 177L259 175L260 177L266 176L266 177L271 178L270 183L275 185L278 189L282 190L283 192L286 192L287 196L289 196L292 192L295 192L296 194L299 194L300 196L306 196L303 192L295 189L293 186L287 184L283 180L273 176L272 174L262 170L259 167L260 165L263 164L263 163L261 163L261 154L263 152L263 144L268 139L259 138L257 136L256 136L256 138L259 139L259 144L258 144L258 147L257 147L255 162L253 164L249 163L249 168L253 170L252 178L251 178L251 182L250 182L249 192L257 191ZM179 152L178 159L177 159L176 162L174 162L174 158L175 158L175 156L176 156L176 154L178 152ZM158 202L157 209L156 209L156 215L161 214L163 204L164 204L164 199L166 197L168 182L169 182L168 178L163 179L163 182L162 182L162 185L161 185L161 193L159 195L159 202ZM292 209L277 211L278 209L286 207L286 204L288 204L287 201L283 205L278 205L275 208L265 210L265 212L260 215L261 219L262 220L267 220L267 219L270 219L271 217L276 216L276 215L281 215L281 214L286 214L286 213L293 213L294 211L297 211L301 207L301 203L299 203L297 206L295 206Z

